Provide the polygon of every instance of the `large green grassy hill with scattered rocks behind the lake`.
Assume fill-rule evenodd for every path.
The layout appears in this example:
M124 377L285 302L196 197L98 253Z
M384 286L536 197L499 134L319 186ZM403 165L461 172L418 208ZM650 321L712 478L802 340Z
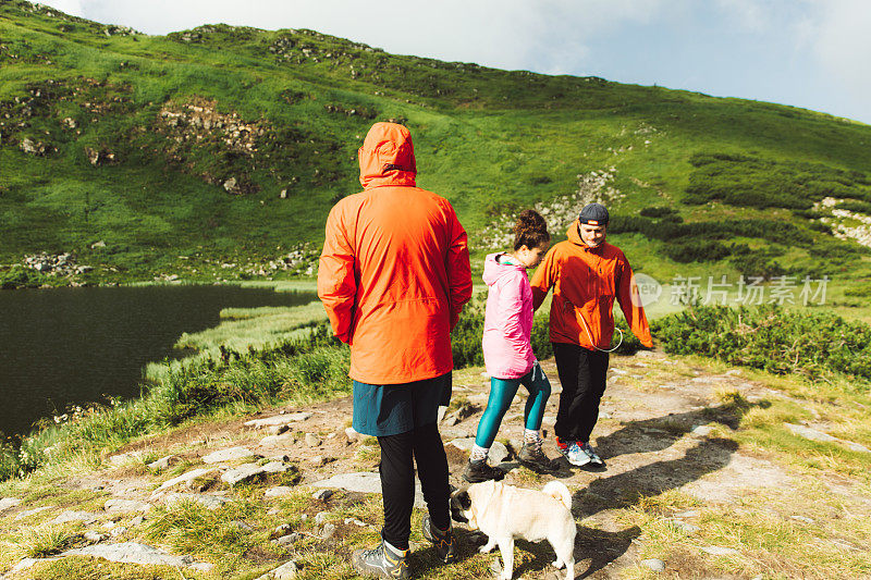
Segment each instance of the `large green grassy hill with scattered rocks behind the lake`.
M561 234L601 199L611 239L661 281L829 275L844 304L869 293L871 126L305 29L147 36L21 0L0 1L0 263L72 252L95 268L78 280L103 282L310 274L380 120L412 129L418 183L455 206L476 266L517 209Z

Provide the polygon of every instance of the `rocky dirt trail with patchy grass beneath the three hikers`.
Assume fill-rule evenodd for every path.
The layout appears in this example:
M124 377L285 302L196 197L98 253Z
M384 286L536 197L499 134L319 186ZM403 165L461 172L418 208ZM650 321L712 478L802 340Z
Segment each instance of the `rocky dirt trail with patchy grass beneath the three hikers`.
M544 451L559 469L553 476L542 476L514 461L523 433L524 390L503 421L491 462L507 471L505 482L511 484L540 488L555 477L568 486L578 522L578 578L763 578L743 572L741 566L723 565L741 554L735 545L704 540L701 532L706 521L712 525L704 516L708 510L775 518L784 526L817 526L817 519L826 517L825 510L810 514L808 506L789 499L790 493L807 483L805 473L778 460L775 454L739 445L731 436L744 414L786 397L748 380L745 371L715 373L659 351L612 356L609 387L593 432L593 443L606 467L596 470L569 468L560 458L552 429L561 387L553 360L542 362L542 367L553 386L543 424ZM463 484L459 474L487 404L488 388L489 381L480 369L455 373L453 403L445 409L440 429L451 482L457 486ZM372 495L380 493L378 446L371 437L349 429L351 416L351 399L345 397L186 427L128 445L107 457L98 470L59 477L53 482L57 495L1 497L0 538L20 538L28 528L64 522L74 522L76 534L65 550L42 554L42 558L0 559L0 575L4 575L0 577L27 578L47 558L87 556L144 570L170 566L183 578L209 578L218 572L214 563L200 555L173 552L155 541L154 531L149 536L144 530L156 514L165 517L192 505L221 510L240 501L253 502L268 516L231 522L244 533L261 534L266 546L243 554L247 570L256 571L244 578L308 577L305 564L297 558L304 552L299 546L309 552L334 552L344 558L351 547L363 545L353 541L355 535L366 533L371 539L380 529L380 499ZM824 439L831 437L825 433L829 427L821 419L793 425L793 431L797 436ZM852 445L854 451L871 453L859 444L831 439ZM844 477L814 482L837 496L851 517L869 519L871 497L854 483ZM663 495L674 501L662 502L655 510L657 521L649 522L651 529L665 526L685 546L678 552L679 558L666 560L646 557L646 544L662 540L639 526L635 507L639 497ZM289 503L290 498L293 502ZM364 505L368 507L354 511L354 506ZM419 494L418 507L422 507ZM293 523L281 523L282 518ZM441 572L428 555L431 548L426 542L415 541L414 534L413 575L487 578L499 570L498 551L476 556L476 546L483 542L480 534L458 528L458 538L463 542L461 562L453 566L466 566L463 575L433 576ZM863 551L867 557L867 545L844 544L845 552ZM517 559L515 578L562 578L550 566L552 554L547 542L518 546L526 551L526 557ZM475 560L479 562L477 567L464 564L474 558L479 558ZM480 562L489 568L481 569ZM732 571L724 573L723 569ZM347 568L336 577L347 578Z

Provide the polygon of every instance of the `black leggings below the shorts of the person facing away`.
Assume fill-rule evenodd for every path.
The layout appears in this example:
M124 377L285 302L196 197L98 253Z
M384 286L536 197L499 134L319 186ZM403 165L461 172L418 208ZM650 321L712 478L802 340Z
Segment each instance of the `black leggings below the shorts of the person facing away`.
M398 435L381 436L378 443L381 445L379 471L384 497L381 536L394 547L408 550L415 503L415 461L432 523L440 530L451 525L447 456L439 424L429 423Z

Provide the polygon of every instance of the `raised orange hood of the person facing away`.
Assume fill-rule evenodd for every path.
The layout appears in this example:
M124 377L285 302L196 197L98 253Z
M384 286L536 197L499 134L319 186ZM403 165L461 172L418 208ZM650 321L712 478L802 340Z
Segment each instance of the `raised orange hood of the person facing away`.
M376 123L359 148L364 189L383 185L415 186L417 165L412 134L396 123Z

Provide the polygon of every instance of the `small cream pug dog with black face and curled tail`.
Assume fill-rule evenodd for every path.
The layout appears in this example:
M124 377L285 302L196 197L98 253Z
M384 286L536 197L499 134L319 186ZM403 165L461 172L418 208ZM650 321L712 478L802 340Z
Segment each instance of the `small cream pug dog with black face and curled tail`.
M566 580L575 578L575 519L568 488L551 481L539 490L526 490L493 480L474 483L451 494L451 518L487 534L481 552L499 545L502 579L514 573L514 539L547 540L556 553L556 568L566 567Z

